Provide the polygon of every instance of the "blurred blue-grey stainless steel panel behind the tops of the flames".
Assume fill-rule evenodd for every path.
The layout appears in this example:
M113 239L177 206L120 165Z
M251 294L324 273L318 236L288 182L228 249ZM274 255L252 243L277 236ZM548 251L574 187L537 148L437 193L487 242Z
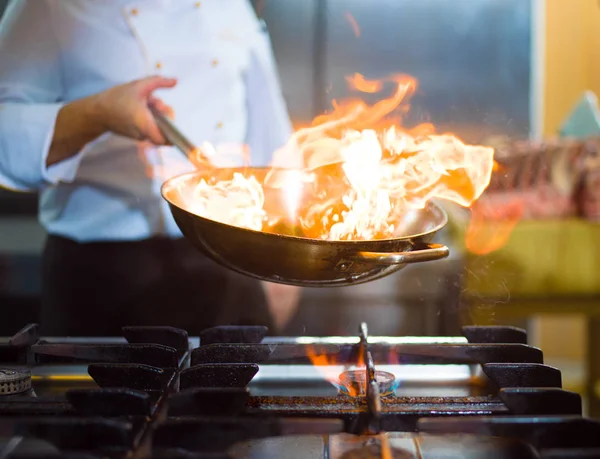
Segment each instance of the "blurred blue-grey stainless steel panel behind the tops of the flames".
M401 72L420 81L408 121L473 142L529 134L534 13L532 0L267 1L263 9L293 119L348 96L349 74Z

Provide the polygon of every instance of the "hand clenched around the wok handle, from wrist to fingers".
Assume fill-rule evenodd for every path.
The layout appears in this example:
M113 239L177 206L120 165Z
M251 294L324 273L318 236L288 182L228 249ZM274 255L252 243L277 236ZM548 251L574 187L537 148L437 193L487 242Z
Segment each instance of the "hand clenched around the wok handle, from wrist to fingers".
M152 94L157 89L172 88L176 84L177 80L173 78L153 76L114 86L95 96L95 117L107 131L166 145L167 140L156 125L148 104L152 103L173 117L173 110Z

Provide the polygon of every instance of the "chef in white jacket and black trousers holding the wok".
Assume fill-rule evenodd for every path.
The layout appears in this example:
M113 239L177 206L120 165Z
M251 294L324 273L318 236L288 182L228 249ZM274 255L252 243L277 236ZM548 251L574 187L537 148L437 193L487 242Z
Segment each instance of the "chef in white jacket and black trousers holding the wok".
M270 42L247 0L13 0L0 23L0 185L39 190L41 327L115 335L281 327L298 291L217 266L160 186L191 170L154 102L217 165L268 165L291 132Z

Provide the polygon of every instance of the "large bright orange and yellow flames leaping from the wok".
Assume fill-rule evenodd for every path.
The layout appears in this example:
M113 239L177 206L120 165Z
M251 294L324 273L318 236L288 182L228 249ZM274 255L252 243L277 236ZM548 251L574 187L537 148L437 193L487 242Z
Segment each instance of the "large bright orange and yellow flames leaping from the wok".
M469 207L479 198L497 167L494 150L466 145L452 134L435 134L430 123L402 127L417 89L414 78L369 80L355 74L347 82L359 93L391 87L392 94L373 105L359 98L334 101L331 112L297 130L274 154L273 166L298 169L296 185L284 193L289 194L289 218L300 234L325 240L390 238L407 211L432 199ZM277 174L267 177L276 181ZM273 184L241 175L216 184L202 182L192 211L267 231L275 223L263 210L261 186Z

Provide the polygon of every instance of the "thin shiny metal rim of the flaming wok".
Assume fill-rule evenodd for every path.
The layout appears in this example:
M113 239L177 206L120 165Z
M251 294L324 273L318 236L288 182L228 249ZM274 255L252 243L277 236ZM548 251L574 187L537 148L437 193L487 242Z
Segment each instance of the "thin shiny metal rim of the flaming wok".
M245 168L244 167L221 167L221 168L217 168L217 170L244 170L244 169L264 170L264 171L271 170L271 169L290 170L290 171L297 170L297 169L283 169L283 168L274 168L274 167L245 167ZM285 240L297 241L297 242L302 242L302 243L311 243L311 244L324 244L324 245L332 244L332 243L333 244L342 244L344 246L351 247L351 246L356 246L356 245L365 245L365 244L379 245L379 244L388 244L388 243L394 243L394 242L400 242L400 241L406 242L406 241L411 241L414 239L422 239L427 236L431 236L433 234L438 233L448 224L448 213L439 205L435 204L432 201L429 201L429 202L427 202L425 208L432 207L433 209L435 209L435 211L439 212L440 217L441 217L440 218L441 221L434 228L432 228L428 231L425 231L425 232L417 233L417 234L410 234L410 235L406 235L406 236L393 237L393 238L387 238L387 239L363 239L363 240L352 240L352 241L315 239L315 238L302 237L302 236L290 236L287 234L267 233L264 231L257 231L257 230L252 230L252 229L248 229L248 228L242 228L240 226L229 225L227 223L219 222L219 221L213 220L211 218L202 217L198 214L190 212L189 210L184 209L183 207L175 204L171 199L169 199L167 197L167 193L168 193L167 189L172 189L174 187L174 184L176 184L177 182L184 181L188 177L194 177L194 176L198 176L201 174L202 174L202 171L196 170L196 171L192 171L192 172L185 172L183 174L179 174L179 175L173 176L173 177L165 180L160 187L160 194L161 194L162 198L169 204L169 206L177 208L181 212L184 212L185 214L189 215L190 217L193 217L194 219L199 219L206 223L220 226L222 228L234 229L234 230L248 233L248 234L260 235L262 237L271 237L273 239L278 239L278 240L281 240L283 238Z

